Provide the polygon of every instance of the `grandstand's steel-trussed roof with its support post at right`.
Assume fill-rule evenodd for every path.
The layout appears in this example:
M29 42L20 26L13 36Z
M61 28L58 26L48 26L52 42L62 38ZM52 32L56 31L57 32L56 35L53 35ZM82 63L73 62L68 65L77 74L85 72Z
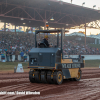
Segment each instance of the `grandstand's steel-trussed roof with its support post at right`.
M39 0L36 0L36 2L38 1ZM60 27L60 28L61 27L70 28L73 26L79 26L80 24L84 24L85 35L86 35L86 27L100 29L99 10L85 8L85 7L81 7L81 6L77 6L77 5L73 5L73 4L69 4L69 3L65 3L61 1L59 2L57 0L44 0L44 1L45 2L47 1L50 3L57 3L57 5L55 5L55 8L53 9L52 8L44 9L41 7L36 8L36 7L30 6L31 2L29 2L28 0L23 0L23 1L20 0L19 5L17 4L18 3L17 1L1 0L0 1L0 8L1 8L0 19L3 20L3 22L5 23L8 22L8 23L14 23L14 24L16 23L15 25L23 25L23 21L20 21L20 19L23 18L25 23L27 23L25 26L31 26L31 27L33 26L35 27L36 23L39 23L39 25L37 24L38 27L40 25L44 26L46 25L46 21L48 21L52 27ZM63 8L62 5L65 8ZM57 9L58 6L63 8L65 12L63 12L63 10L61 9ZM72 12L68 10L69 12L67 13L66 12L67 6L69 6L69 8L72 7L73 9L76 8L78 14L77 12L74 13L74 10ZM49 20L52 16L56 18L54 21ZM9 20L9 19L12 19L12 20ZM28 23L28 21L32 21L31 24ZM86 24L88 23L89 25L89 22L91 21L94 21L93 26L87 26ZM35 24L33 25L32 23L35 23ZM66 23L68 24L68 26L66 26ZM85 36L85 46L86 46L86 36Z

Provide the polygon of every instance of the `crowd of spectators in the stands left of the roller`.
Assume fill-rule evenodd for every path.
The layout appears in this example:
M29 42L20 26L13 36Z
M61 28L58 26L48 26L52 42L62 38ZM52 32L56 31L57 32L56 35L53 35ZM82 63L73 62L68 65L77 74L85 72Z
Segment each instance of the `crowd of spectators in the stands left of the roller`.
M0 54L12 58L15 55L15 60L18 60L18 55L23 59L32 47L34 47L33 34L13 34L13 33L0 33Z

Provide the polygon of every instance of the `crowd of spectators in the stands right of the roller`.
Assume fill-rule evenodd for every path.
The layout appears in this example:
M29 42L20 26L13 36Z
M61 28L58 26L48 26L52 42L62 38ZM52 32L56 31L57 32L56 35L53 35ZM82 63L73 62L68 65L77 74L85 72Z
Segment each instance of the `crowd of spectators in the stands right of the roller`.
M65 54L71 54L71 55L94 55L94 54L100 54L99 48L93 48L90 47L89 44L84 46L84 44L80 44L76 41L67 41L66 44L64 44L64 53Z

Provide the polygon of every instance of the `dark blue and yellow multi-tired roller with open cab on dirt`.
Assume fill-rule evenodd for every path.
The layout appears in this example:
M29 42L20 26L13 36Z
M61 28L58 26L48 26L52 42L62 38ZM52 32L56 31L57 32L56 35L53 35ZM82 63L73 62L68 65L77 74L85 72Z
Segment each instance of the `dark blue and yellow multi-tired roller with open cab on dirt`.
M37 34L57 33L56 47L48 47L43 42L37 46ZM84 68L84 57L64 58L63 55L64 30L36 30L35 48L29 52L29 80L31 83L44 82L62 84L63 79L81 79L81 68ZM59 36L61 34L61 36ZM59 37L61 39L59 39ZM61 44L59 44L61 40ZM60 48L59 48L60 46Z

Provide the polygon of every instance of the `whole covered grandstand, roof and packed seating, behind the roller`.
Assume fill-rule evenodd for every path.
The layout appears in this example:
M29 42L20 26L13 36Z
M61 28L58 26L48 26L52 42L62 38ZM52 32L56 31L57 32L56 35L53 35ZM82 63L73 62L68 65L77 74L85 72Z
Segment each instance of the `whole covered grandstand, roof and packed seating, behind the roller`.
M34 34L20 33L16 30L16 26L38 27L40 29L41 26L45 27L47 22L52 28L64 29L83 24L85 34L64 35L63 49L65 54L100 54L100 49L97 46L91 46L91 44L97 44L95 39L100 39L99 35L86 36L86 27L89 27L87 24L100 18L98 10L61 3L57 0L30 0L30 2L29 0L1 0L0 7L2 8L0 20L5 23L4 31L0 31L1 54L7 50L10 50L12 54L16 54L16 51L28 54L30 49L34 47ZM51 21L51 18L54 18L54 21ZM6 23L13 23L15 31L6 32ZM56 35L49 37L51 36L53 38L49 39L49 42L55 45ZM38 42L42 39L43 35L39 34Z

